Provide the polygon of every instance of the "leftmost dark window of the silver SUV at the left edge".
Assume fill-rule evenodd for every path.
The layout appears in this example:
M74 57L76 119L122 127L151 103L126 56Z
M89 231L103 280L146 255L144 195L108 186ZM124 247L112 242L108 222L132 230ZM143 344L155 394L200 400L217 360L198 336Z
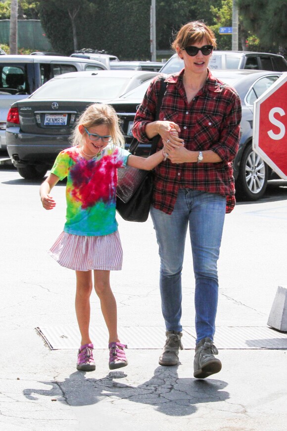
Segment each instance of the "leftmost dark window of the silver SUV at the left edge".
M25 65L7 63L0 65L0 94L27 94L27 72Z

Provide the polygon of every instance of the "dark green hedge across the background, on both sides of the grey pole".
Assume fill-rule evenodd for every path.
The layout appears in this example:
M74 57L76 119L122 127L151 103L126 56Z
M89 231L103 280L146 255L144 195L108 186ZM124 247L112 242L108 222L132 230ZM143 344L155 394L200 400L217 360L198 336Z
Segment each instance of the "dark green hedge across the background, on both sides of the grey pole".
M122 59L150 58L150 4L142 0L39 0L41 21L56 51L73 51L68 14L81 3L76 17L78 47L106 50ZM220 5L221 0L213 1ZM173 35L191 20L212 22L209 0L156 1L157 49L168 50Z

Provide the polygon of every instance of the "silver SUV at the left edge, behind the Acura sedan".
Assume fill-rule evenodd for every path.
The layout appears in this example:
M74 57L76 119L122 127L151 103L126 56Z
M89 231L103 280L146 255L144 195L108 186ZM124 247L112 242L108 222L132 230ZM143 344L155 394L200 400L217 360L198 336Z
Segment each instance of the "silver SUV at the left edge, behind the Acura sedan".
M28 97L45 82L67 72L106 70L100 61L49 55L0 56L0 149L6 149L6 118L12 103Z

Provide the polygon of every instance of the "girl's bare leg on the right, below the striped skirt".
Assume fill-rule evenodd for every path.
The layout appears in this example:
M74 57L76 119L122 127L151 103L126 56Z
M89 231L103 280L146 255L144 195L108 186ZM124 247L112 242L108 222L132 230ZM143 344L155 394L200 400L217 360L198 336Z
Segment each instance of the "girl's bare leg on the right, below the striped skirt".
M117 304L110 287L110 271L94 270L95 290L100 300L103 318L109 332L109 343L119 342L117 334Z

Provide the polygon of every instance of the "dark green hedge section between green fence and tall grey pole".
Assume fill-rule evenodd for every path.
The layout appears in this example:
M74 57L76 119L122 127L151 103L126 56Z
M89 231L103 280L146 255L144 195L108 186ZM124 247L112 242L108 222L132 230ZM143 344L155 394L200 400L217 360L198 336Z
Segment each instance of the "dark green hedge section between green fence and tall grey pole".
M149 4L142 0L40 0L40 16L53 48L73 52L71 5L81 3L76 19L78 47L106 50L121 58L148 58ZM147 25L148 23L148 25Z

